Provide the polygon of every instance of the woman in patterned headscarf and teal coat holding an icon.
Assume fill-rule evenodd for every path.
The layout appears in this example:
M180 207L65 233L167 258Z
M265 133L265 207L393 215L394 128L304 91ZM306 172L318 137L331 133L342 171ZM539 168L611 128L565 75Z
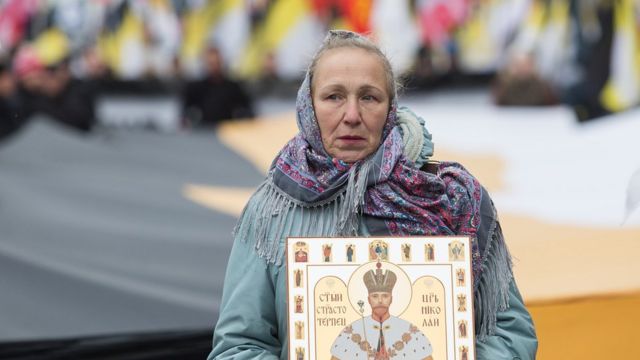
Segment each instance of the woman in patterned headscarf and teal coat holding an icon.
M398 109L380 49L331 31L296 105L300 132L236 227L209 359L288 359L287 236L454 234L473 240L478 359L534 358L533 324L493 204L462 166L427 162L431 135Z

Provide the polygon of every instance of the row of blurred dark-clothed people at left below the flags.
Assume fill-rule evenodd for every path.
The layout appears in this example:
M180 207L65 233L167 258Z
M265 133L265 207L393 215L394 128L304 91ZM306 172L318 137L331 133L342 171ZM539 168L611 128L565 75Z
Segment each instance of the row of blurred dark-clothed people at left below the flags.
M231 79L215 46L202 56L202 76L171 80L153 77L122 80L113 76L94 52L83 54L84 76L75 64L66 38L53 33L46 41L21 46L0 59L0 139L8 138L34 115L44 115L79 132L97 124L97 102L103 96L171 96L180 99L184 127L211 127L220 121L254 115L252 98Z

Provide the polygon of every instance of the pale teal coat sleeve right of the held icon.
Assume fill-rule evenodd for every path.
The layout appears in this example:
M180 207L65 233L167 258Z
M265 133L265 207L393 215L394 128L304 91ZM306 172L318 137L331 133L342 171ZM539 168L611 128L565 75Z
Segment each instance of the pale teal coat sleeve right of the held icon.
M476 342L478 360L529 360L536 358L538 339L529 312L512 281L509 308L498 312L495 334Z

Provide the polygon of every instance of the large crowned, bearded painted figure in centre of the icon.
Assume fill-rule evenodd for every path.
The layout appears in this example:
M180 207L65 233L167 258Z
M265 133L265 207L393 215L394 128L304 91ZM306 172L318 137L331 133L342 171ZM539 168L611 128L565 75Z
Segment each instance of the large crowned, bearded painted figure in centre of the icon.
M416 359L433 360L431 342L410 322L389 313L397 276L382 264L363 276L371 315L344 328L331 346L332 360Z

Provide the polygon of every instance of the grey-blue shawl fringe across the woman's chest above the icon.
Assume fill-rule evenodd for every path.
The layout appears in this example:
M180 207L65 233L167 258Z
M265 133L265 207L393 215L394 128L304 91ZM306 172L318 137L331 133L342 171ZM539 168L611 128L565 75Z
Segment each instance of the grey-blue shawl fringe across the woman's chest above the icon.
M233 229L234 238L255 241L259 257L280 265L284 251L279 245L288 236L356 236L372 166L371 159L354 165L344 189L311 204L284 192L270 174L242 211ZM294 228L293 214L298 212L300 221Z

